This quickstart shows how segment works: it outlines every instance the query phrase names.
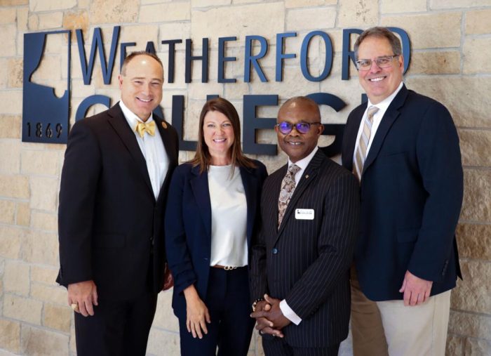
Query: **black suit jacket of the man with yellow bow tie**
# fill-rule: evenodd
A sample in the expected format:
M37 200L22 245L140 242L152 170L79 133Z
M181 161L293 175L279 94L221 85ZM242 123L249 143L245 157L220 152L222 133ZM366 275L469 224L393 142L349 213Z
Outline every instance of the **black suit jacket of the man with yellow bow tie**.
M99 298L112 300L135 298L149 284L161 290L163 207L178 140L170 124L154 119L169 158L158 199L119 103L74 124L60 186L58 283L93 279Z

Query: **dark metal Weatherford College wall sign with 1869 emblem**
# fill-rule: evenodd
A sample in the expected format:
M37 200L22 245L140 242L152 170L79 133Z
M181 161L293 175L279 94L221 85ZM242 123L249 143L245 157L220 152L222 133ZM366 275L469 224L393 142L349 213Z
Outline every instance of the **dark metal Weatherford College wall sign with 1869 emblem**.
M410 62L410 40L408 34L401 28L389 27L391 31L401 37L404 57L404 72L408 70ZM84 85L90 85L93 77L93 69L97 53L100 60L100 68L102 71L102 79L104 84L111 84L112 72L116 63L116 49L119 47L120 58L119 67L121 67L128 48L136 46L136 42L121 42L119 34L121 26L115 26L112 31L112 41L108 48L105 48L102 40L102 32L100 27L96 27L93 33L93 40L90 46L90 53L87 55L84 47L83 33L81 29L76 29L76 41L79 49L79 60L81 64L81 77ZM344 29L343 44L342 44L342 80L349 79L350 61L354 62L354 52L351 48L351 34L361 34L362 29ZM53 88L34 84L31 81L32 74L43 58L43 52L46 44L46 37L53 35L68 34L68 68L67 68L67 90L62 98L55 96ZM304 35L300 53L286 53L288 48L287 41L291 37L297 37L297 32L285 32L276 34L276 67L274 81L283 81L283 70L285 60L296 58L300 55L300 68L302 76L307 81L323 81L328 79L331 67L332 58L334 56L332 41L329 34L323 31L312 31ZM318 37L325 46L324 67L317 75L311 73L309 69L309 46L312 39ZM67 133L69 131L69 114L70 114L70 48L71 48L71 31L55 31L55 32L38 32L34 34L25 34L24 36L24 92L22 103L22 141L24 142L39 142L39 143L67 143ZM236 83L237 78L226 78L224 65L225 62L234 62L236 57L227 57L226 49L229 42L237 41L236 37L220 37L218 42L218 57L216 63L210 63L210 39L201 39L201 53L193 51L193 41L186 39L183 43L182 39L164 39L161 44L168 46L168 58L164 58L163 62L167 63L166 77L169 83L173 83L175 79L175 53L176 48L184 46L185 49L185 65L184 65L184 81L190 83L192 81L193 62L201 62L201 82L208 83L208 71L210 65L217 66L217 82L218 83ZM251 77L256 76L262 82L269 82L270 79L264 74L261 66L261 60L269 51L271 44L267 39L261 36L250 35L244 39L244 67L243 81L248 83ZM155 44L148 41L146 51L156 53ZM254 51L253 51L253 48ZM108 53L108 58L106 58ZM344 101L332 93L298 93L298 95L306 95L318 103L318 105L328 105L336 112L347 106ZM208 95L207 99L217 95ZM365 101L366 96L362 95L361 101ZM196 142L184 140L184 95L173 95L172 107L172 124L177 129L180 138L180 150L194 151L196 150ZM76 108L75 120L81 120L86 117L88 109L95 105L102 104L106 107L112 105L112 100L107 95L90 95L83 99ZM243 152L247 154L277 154L277 145L257 143L256 133L260 129L273 129L276 123L276 118L260 118L257 117L257 108L261 106L277 106L278 95L271 93L267 95L243 95ZM156 114L163 117L161 107L157 107ZM324 124L323 135L335 136L335 140L328 147L321 147L322 150L332 157L341 152L342 135L344 125L342 124Z

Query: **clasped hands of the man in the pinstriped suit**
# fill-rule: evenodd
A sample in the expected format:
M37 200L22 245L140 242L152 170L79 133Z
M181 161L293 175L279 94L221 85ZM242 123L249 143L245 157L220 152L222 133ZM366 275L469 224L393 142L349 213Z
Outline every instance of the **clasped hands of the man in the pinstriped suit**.
M264 301L256 304L255 311L250 315L256 319L256 329L260 334L270 334L283 338L281 329L290 324L290 320L283 315L280 300L264 294Z

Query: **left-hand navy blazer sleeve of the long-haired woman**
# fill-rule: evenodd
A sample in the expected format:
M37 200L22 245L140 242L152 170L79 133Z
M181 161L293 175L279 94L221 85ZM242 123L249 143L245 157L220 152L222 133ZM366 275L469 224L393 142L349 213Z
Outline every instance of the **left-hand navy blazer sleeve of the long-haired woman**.
M183 217L183 191L185 175L182 166L175 169L170 180L165 216L167 263L174 277L175 293L181 293L197 280L191 255L186 244Z

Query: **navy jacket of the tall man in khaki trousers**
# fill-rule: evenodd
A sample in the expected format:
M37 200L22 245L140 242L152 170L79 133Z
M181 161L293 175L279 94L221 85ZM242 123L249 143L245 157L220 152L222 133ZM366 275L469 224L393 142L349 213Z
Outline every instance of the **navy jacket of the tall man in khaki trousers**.
M365 109L366 103L353 110L344 130L342 163L350 171ZM361 177L355 263L368 298L402 299L406 270L433 281L431 295L455 286L462 176L450 113L403 86L382 118Z

